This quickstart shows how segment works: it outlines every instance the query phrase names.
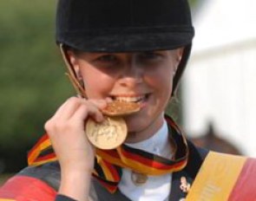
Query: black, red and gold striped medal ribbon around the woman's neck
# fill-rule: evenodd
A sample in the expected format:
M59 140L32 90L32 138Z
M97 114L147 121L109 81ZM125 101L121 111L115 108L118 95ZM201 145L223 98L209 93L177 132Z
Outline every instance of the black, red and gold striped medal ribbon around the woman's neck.
M121 168L128 168L135 172L157 176L180 171L187 165L187 141L174 120L167 115L165 118L167 120L169 138L174 141L177 147L174 159L166 159L124 144L112 150L96 149L93 176L108 191L116 191L121 179ZM56 154L46 133L30 150L28 162L29 165L43 165L55 160Z

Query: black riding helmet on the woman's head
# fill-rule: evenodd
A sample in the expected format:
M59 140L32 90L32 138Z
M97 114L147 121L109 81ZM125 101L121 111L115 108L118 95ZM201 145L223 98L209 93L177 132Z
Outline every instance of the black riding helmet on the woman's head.
M194 27L187 0L59 0L56 42L89 52L185 47L173 94L190 55Z

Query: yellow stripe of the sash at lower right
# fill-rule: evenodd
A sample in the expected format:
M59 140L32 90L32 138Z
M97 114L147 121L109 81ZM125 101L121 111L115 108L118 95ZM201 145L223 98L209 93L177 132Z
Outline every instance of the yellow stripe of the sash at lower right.
M246 157L209 152L186 201L226 201L246 162Z

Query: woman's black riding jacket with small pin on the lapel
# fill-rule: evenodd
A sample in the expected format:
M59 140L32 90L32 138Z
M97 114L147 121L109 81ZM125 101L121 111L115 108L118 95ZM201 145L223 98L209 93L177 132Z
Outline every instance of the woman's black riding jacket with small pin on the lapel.
M189 148L189 156L186 167L180 172L174 172L172 177L172 189L169 200L179 201L186 198L187 193L181 191L181 177L187 178L187 182L192 185L200 165L207 156L208 151L195 147L190 141L187 141ZM47 184L49 188L57 191L61 181L60 165L57 162L51 162L41 166L30 166L16 174L17 176L25 176L28 178L36 178ZM0 194L1 198L1 194ZM128 201L129 199L116 191L114 194L109 193L95 178L92 178L90 198L94 201ZM56 196L58 201L73 200L61 195Z

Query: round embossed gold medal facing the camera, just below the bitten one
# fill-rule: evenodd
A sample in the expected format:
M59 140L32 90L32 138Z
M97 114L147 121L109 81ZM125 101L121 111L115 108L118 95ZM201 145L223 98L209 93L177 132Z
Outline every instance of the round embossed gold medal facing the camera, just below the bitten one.
M85 127L89 141L100 149L115 149L127 137L127 126L120 117L105 117L102 123L89 119Z

